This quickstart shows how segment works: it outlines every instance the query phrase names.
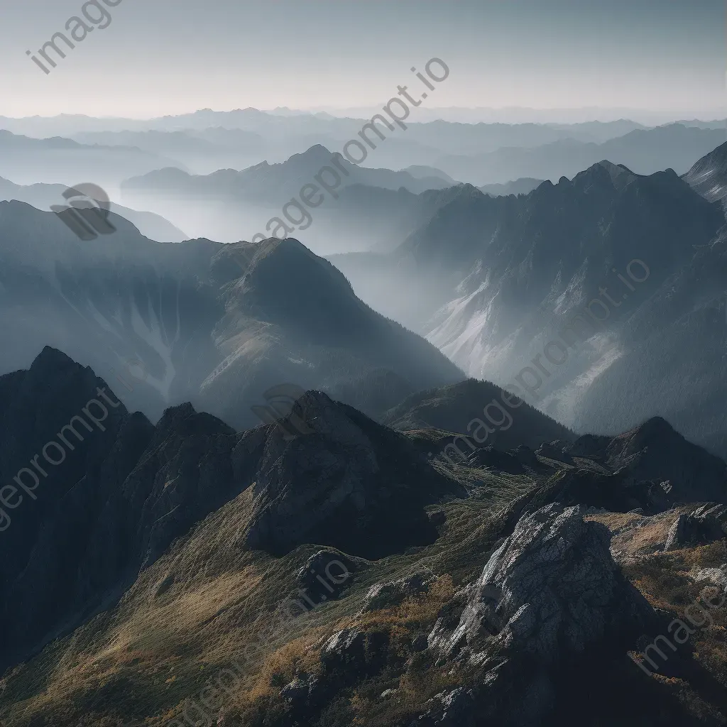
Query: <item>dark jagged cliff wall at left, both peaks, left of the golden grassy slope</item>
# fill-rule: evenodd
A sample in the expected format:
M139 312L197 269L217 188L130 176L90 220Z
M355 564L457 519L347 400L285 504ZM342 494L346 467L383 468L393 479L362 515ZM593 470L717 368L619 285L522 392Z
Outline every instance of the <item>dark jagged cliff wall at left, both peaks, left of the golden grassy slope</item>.
M29 371L0 377L0 399L0 481L14 481L48 442L65 451L57 465L45 463L36 489L31 470L22 473L27 496L9 499L15 508L0 537L13 557L0 564L0 616L16 628L2 670L113 603L172 539L250 481L235 478L240 436L220 420L186 404L153 427L90 369L50 348ZM61 460L60 449L46 451Z

